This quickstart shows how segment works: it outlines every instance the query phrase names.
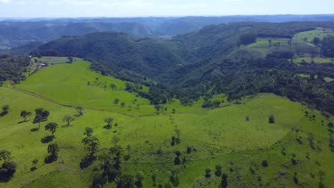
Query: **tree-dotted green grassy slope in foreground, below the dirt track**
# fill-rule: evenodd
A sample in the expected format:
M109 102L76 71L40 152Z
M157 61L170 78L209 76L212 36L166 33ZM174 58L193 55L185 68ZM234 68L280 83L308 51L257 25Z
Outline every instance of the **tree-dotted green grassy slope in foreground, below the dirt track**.
M64 115L76 114L72 108L65 108L54 103L49 103L24 93L9 88L0 88L0 105L9 104L10 113L0 117L0 148L10 150L14 161L18 164L18 170L14 179L0 187L88 187L90 180L87 179L92 167L81 170L79 162L83 156L81 139L84 137L84 127L93 127L93 135L101 141L102 147L111 147L110 142L113 135L121 138L120 145L126 147L131 145L131 160L123 164L125 173L133 174L136 171L143 171L146 176L144 187L151 187L151 174L157 174L158 182L168 182L168 173L171 169L177 168L181 185L179 187L193 187L193 182L217 184L218 179L213 177L206 179L203 175L206 167L214 168L216 164L223 165L223 172L229 176L229 185L238 187L233 183L235 172L228 172L233 161L235 166L241 168L242 182L255 182L258 186L257 176L261 176L265 187L280 187L285 183L288 187L295 187L293 183L293 172L298 172L300 182L308 182L310 187L318 184L318 172L325 172L325 185L333 186L334 176L333 152L328 149L328 131L326 126L321 125L324 120L318 114L315 120L308 120L304 116L303 107L275 95L263 94L262 98L253 100L245 105L232 105L226 108L209 110L205 113L190 113L182 115L158 115L154 117L126 117L113 113L103 113L86 110L86 115L77 118L72 126L66 127L61 122ZM20 110L33 111L34 108L43 107L50 110L49 121L58 122L60 127L56 131L55 141L59 143L61 152L59 160L52 164L44 164L46 157L46 144L41 143L41 137L50 135L43 128L39 132L30 132L33 125L31 120L18 123ZM276 122L268 124L268 115L274 114ZM104 130L103 119L112 116L118 122L117 132ZM246 122L245 117L251 120ZM172 119L172 120L171 120ZM173 123L172 123L173 122ZM325 120L327 124L327 120ZM44 127L46 122L42 122ZM174 126L181 129L181 144L171 146L171 136L175 135ZM301 130L298 136L302 137L303 145L295 141L295 132L291 127ZM313 132L315 140L320 142L321 152L311 150L306 137L308 132ZM279 143L275 144L275 142ZM192 145L197 152L188 155L186 147ZM287 148L286 155L280 154L283 145ZM157 155L158 147L162 148L163 155ZM262 151L258 150L263 148ZM268 150L267 150L268 149ZM187 161L183 165L175 167L173 164L173 151L181 150ZM310 153L310 159L305 158L306 152ZM127 153L127 152L126 152ZM290 162L291 154L297 155L298 165L293 166ZM38 169L30 172L31 161L38 159ZM260 166L262 160L268 160L269 167ZM319 167L315 164L318 160ZM134 164L135 161L138 164ZM161 164L162 162L162 164ZM282 164L286 164L283 167ZM256 175L249 172L253 166ZM279 177L278 172L287 172L285 177ZM315 174L310 178L309 172ZM278 177L277 179L275 177ZM195 187L199 183L195 183ZM113 187L107 184L106 187ZM218 186L212 186L218 187Z

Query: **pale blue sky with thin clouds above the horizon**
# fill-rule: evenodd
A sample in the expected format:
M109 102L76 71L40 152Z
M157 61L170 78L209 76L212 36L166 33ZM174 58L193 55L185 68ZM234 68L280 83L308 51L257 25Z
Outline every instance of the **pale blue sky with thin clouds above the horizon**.
M334 14L333 0L0 0L0 17Z

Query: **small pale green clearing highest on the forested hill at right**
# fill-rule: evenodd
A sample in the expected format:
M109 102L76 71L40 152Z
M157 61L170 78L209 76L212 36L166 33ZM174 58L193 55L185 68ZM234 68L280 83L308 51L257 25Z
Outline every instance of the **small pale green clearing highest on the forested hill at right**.
M306 41L310 43L313 41L315 37L323 39L325 36L328 36L331 34L334 34L333 29L317 28L316 30L297 33L294 38L300 39L300 40L305 40L306 38Z

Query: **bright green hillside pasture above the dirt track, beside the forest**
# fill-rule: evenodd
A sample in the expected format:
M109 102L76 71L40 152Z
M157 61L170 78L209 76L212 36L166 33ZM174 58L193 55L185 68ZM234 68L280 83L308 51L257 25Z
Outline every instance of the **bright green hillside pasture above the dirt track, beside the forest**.
M86 61L48 66L15 87L60 103L80 105L85 108L116 110L134 115L155 113L153 105L149 105L147 99L136 97L136 93L125 91L126 82L95 73L89 69L89 66L90 63ZM110 86L111 83L116 85L114 90ZM142 90L148 92L148 88L145 85L142 86ZM113 103L116 98L120 100L118 105ZM214 98L216 99L226 100L226 96L218 95ZM121 103L126 105L122 108ZM192 106L185 107L179 100L174 99L173 103L165 105L167 107L165 113L172 113L173 109L176 109L176 112L201 110L202 103L203 100L198 100Z

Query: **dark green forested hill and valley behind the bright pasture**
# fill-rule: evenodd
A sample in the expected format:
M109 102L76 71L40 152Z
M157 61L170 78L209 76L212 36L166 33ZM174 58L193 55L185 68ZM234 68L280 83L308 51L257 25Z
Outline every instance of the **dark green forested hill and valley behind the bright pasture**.
M257 38L289 41L296 33L318 27L330 29L334 28L334 23L228 23L206 26L166 40L99 32L51 41L37 48L34 56L86 58L93 62L93 70L128 80L133 75L143 75L141 78L157 80L173 88L183 104L192 103L203 95L210 98L213 93L227 93L229 100L239 100L245 95L269 92L334 113L331 109L333 82L323 80L334 78L332 63L295 64L291 63L293 56L297 56L294 51L273 51L263 58L244 48ZM331 41L328 37L318 46L306 42L304 45L321 47L321 51L328 52L332 49L328 45ZM313 50L307 53L315 54Z

